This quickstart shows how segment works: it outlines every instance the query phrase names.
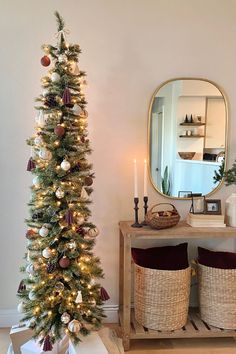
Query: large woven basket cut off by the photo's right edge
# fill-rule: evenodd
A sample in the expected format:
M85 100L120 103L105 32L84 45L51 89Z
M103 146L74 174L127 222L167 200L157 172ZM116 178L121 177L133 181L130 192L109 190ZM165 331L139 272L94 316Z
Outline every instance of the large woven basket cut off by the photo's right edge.
M200 315L206 323L236 329L236 269L219 269L198 263Z

